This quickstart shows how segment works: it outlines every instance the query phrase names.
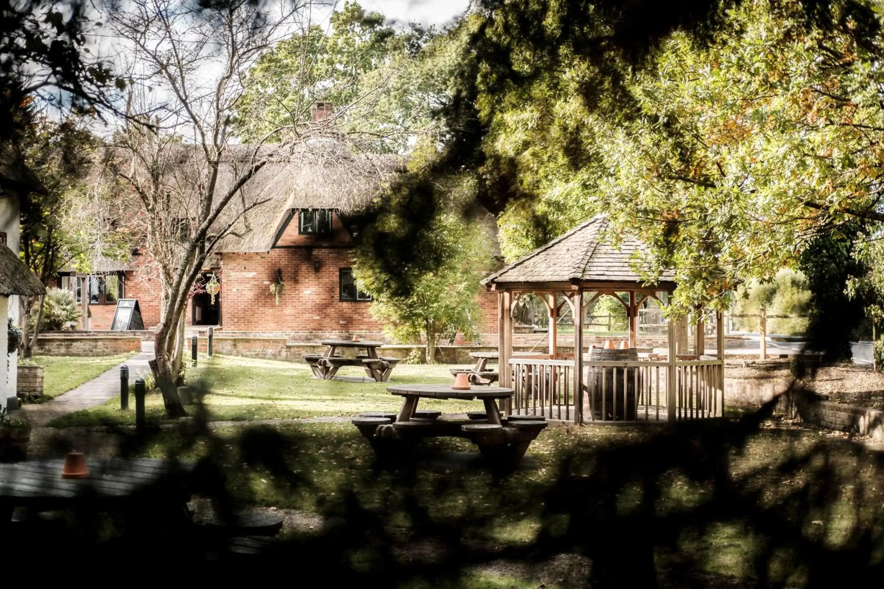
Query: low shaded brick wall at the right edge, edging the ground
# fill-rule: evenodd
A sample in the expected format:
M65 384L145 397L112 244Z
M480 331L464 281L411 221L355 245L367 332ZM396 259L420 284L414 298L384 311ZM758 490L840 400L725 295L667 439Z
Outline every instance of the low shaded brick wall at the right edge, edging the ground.
M815 426L884 440L884 411L834 403L807 391L781 396L777 409Z

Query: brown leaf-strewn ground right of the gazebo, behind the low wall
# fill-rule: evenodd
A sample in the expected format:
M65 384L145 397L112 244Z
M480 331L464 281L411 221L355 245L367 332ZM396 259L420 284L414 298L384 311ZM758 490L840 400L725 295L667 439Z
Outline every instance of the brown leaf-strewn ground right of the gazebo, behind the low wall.
M725 375L728 378L785 383L792 379L788 360L728 360ZM852 363L825 366L801 383L820 395L828 395L829 400L835 403L884 409L884 374L875 373L872 366Z

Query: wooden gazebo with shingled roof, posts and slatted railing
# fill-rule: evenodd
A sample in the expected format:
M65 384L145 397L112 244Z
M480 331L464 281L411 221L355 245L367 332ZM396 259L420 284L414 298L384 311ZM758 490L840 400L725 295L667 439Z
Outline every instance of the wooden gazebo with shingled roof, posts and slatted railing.
M724 409L721 313L717 313L717 358L703 355L702 326L696 330L695 353L685 353L686 322L674 321L668 322L666 356L639 354L638 310L649 297L667 301L676 286L674 274L645 283L636 265L649 259L647 246L636 238L612 245L606 236L609 223L606 215L595 216L482 281L499 293L499 378L502 386L515 389L507 412L575 423L720 417ZM529 293L544 300L549 314L545 354L513 351L514 306ZM619 293L628 293L628 302ZM584 345L586 310L605 295L613 295L626 309L628 350L587 350ZM573 351L560 350L558 342L558 320L565 305L574 321Z

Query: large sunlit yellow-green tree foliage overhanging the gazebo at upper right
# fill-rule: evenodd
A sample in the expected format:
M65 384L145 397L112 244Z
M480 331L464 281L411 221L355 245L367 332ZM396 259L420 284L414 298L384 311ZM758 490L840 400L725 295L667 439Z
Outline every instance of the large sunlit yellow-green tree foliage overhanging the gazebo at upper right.
M651 245L649 278L676 268L671 312L725 309L819 234L884 218L880 5L700 4L697 29L699 4L480 12L480 193L498 200L508 259L606 211L613 238ZM629 28L640 7L659 26Z

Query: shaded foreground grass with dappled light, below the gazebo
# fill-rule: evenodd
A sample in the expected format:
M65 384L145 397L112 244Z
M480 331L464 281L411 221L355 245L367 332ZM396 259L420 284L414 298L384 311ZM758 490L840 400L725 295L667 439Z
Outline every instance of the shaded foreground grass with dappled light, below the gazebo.
M684 443L691 439L697 449ZM808 430L757 430L733 446L716 440L666 428L552 427L531 446L537 468L503 479L434 462L442 450L475 449L456 439L422 442L414 471L377 470L369 444L348 423L217 426L195 439L166 429L141 454L211 457L237 502L343 518L356 528L353 537L369 525L357 522L380 517L394 532L369 553L397 542L408 551L422 534L457 530L447 542L532 560L550 543L562 553L598 555L620 542L626 564L638 545L624 536L652 538L660 574L690 570L716 579L697 585L694 578L693 586L728 587L748 585L727 579L759 575L775 586L803 586L814 558L823 563L851 549L868 548L872 566L884 562L884 464L873 453ZM726 457L723 477L716 452ZM636 456L647 461L618 462ZM293 538L299 534L320 531ZM503 572L502 585L480 576L451 586L532 586Z

